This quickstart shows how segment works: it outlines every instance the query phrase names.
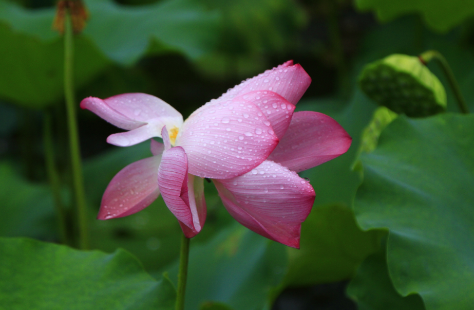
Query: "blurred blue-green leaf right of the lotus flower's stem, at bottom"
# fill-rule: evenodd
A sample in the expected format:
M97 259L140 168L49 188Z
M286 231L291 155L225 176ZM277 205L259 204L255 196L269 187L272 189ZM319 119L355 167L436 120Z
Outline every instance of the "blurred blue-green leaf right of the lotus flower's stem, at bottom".
M204 226L205 227L205 226ZM232 225L203 245L191 241L185 308L208 301L235 310L260 310L287 268L285 246L240 224ZM177 266L170 271L176 279Z

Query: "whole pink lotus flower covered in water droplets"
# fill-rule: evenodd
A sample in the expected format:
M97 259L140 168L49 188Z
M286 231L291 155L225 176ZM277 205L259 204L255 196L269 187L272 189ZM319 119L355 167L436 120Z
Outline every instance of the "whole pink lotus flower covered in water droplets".
M126 147L151 139L153 157L131 163L110 181L98 218L122 217L161 193L187 236L206 217L203 178L211 178L224 207L242 225L299 248L301 223L315 193L297 172L345 153L351 137L332 118L296 112L311 78L286 62L243 81L183 122L163 100L146 94L86 98L82 108L128 130L110 135Z

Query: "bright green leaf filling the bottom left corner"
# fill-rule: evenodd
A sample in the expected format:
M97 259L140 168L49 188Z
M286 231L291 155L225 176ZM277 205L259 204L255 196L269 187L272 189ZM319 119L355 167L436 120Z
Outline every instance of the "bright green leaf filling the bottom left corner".
M174 309L176 291L128 252L78 251L30 239L0 238L0 308Z

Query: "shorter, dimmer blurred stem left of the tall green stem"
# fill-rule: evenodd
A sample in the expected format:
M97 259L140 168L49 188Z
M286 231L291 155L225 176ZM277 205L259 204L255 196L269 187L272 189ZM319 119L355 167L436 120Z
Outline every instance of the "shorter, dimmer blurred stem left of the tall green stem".
M45 165L48 174L49 184L54 199L54 207L56 208L56 216L58 217L58 228L60 232L61 243L68 244L66 216L61 198L61 182L59 179L58 169L54 160L54 147L51 129L51 114L46 112L43 121L43 146L45 152Z

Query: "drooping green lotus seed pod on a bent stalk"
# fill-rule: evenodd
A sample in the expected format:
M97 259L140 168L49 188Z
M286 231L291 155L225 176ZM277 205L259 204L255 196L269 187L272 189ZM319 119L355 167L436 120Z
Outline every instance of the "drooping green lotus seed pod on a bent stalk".
M443 84L418 57L392 54L368 64L359 85L371 99L395 113L424 117L446 111Z

